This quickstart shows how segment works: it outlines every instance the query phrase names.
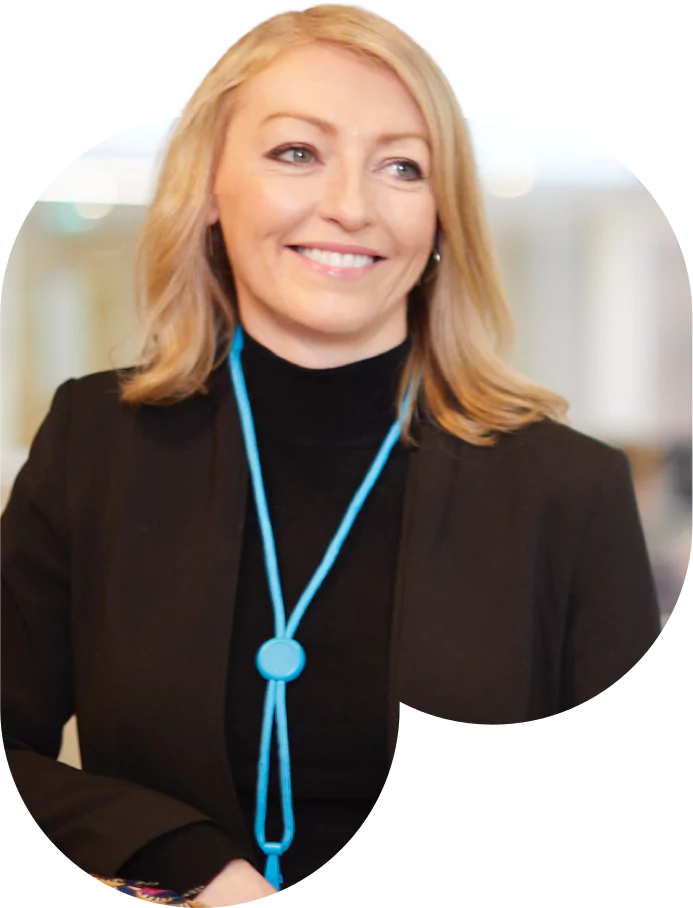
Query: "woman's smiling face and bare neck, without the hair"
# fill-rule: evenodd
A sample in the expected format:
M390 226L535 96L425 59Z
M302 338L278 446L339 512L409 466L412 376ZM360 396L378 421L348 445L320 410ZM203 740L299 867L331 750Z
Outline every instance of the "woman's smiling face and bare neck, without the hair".
M407 293L436 230L430 136L407 89L341 47L315 44L285 51L236 103L208 222L221 224L244 328L307 368L402 343ZM320 244L382 259L337 267L292 248Z

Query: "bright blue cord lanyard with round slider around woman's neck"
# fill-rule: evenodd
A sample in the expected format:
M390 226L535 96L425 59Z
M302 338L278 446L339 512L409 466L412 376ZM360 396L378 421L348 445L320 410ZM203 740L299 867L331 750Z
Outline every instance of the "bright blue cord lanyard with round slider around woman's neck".
M375 485L375 481L380 476L380 473L387 462L387 458L390 455L390 451L397 443L401 435L401 424L399 418L396 419L388 432L385 441L381 445L375 460L366 474L366 478L361 483L359 490L347 508L342 523L332 539L332 542L328 546L320 566L313 575L313 579L304 590L287 625L284 612L284 601L282 598L281 586L279 584L279 570L277 567L277 554L274 547L274 535L272 533L272 524L270 523L269 512L267 510L267 499L265 497L264 483L262 481L262 472L258 458L255 426L250 411L250 401L248 400L243 366L241 365L242 350L243 329L239 321L234 335L231 353L229 354L231 378L233 380L236 401L240 412L241 426L243 428L245 450L253 482L253 491L255 493L255 507L257 509L262 531L262 545L265 552L265 570L274 608L275 628L275 636L266 640L258 649L255 656L255 665L262 677L267 681L265 707L262 719L262 733L260 738L260 756L258 759L255 838L264 854L267 855L264 876L275 889L279 890L284 879L279 869L279 856L284 854L291 845L294 837L289 733L286 724L286 683L287 681L293 681L294 678L297 678L306 664L306 654L303 647L297 640L294 640L293 637L313 596L334 564L335 559L339 554L339 550L349 534L349 530L351 529L357 514L363 506L363 502ZM403 410L405 411L409 406L412 386L413 378L409 383L409 389L407 390L403 403ZM281 842L268 842L265 839L265 819L267 815L270 742L272 739L272 727L275 713L277 720L284 836Z

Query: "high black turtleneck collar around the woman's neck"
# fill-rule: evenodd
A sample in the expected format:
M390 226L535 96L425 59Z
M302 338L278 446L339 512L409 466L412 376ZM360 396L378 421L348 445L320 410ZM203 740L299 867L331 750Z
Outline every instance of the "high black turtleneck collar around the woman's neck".
M306 444L384 440L397 418L397 385L411 339L377 356L308 369L273 353L247 331L241 364L258 435Z

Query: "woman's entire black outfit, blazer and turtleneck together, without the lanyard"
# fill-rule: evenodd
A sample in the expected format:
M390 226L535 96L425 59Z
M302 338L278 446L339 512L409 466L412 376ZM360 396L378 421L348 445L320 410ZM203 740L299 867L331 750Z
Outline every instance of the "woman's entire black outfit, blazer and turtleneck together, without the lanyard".
M407 341L305 370L245 333L287 618L394 421ZM389 383L389 387L388 387ZM395 446L318 589L287 685L296 834L286 883L365 829L403 712L467 727L561 719L656 649L623 451L544 420ZM273 611L228 362L208 397L130 408L69 379L0 516L0 732L18 798L84 873L186 891L254 838ZM79 726L82 770L57 761ZM282 833L272 747L267 839Z

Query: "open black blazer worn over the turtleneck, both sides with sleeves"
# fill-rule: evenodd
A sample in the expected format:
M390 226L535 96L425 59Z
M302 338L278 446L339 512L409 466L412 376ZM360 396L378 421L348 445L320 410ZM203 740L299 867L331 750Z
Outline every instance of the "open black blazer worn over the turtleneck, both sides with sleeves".
M559 719L662 639L621 450L550 421L495 448L417 431L391 767L403 712L467 727ZM249 483L228 363L209 397L138 411L119 403L114 371L64 382L17 475L0 518L0 730L20 803L85 873L115 875L199 820L250 842L223 726ZM82 771L56 759L73 714Z

